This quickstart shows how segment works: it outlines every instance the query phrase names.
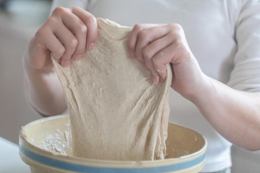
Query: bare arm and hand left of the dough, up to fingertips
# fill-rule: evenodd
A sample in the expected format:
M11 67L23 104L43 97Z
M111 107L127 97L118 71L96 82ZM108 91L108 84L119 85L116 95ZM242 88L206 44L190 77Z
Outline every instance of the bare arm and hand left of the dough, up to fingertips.
M97 40L95 17L79 8L56 8L30 40L23 56L24 90L29 104L43 115L62 113L67 104L50 54L63 67L81 59Z

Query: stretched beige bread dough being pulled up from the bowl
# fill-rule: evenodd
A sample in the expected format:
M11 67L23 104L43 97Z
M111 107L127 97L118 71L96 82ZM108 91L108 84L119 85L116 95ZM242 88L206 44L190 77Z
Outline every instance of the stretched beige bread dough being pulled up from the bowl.
M172 69L152 84L149 71L128 57L132 27L97 19L99 39L82 60L54 67L70 114L73 154L106 160L164 159Z

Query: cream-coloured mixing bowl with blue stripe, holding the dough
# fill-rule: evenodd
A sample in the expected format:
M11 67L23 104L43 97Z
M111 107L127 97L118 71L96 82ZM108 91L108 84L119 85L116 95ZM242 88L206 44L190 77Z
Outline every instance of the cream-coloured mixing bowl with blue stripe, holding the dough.
M72 156L69 115L33 121L20 131L19 154L31 172L199 172L207 141L199 133L169 123L166 159L111 161ZM91 148L90 148L91 150Z

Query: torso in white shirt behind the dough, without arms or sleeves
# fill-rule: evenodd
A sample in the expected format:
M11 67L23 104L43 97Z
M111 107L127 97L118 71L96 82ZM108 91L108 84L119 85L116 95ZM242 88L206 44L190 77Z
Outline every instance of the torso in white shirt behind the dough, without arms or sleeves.
M90 0L86 10L95 17L108 18L125 26L178 23L202 71L225 84L229 80L237 51L234 34L241 10L238 0ZM208 140L204 171L231 166L231 143L210 126L197 107L173 89L170 89L169 104L170 122L196 130Z

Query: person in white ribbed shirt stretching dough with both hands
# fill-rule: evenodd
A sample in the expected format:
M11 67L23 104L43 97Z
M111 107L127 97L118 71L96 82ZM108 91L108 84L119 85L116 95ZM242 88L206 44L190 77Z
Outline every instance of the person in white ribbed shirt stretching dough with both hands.
M39 113L66 101L50 60L63 67L95 49L96 18L133 26L129 56L163 82L173 67L170 122L208 141L202 172L230 172L230 147L260 149L260 2L55 0L23 56L25 93Z

